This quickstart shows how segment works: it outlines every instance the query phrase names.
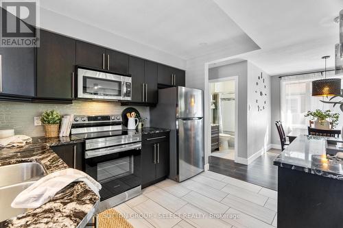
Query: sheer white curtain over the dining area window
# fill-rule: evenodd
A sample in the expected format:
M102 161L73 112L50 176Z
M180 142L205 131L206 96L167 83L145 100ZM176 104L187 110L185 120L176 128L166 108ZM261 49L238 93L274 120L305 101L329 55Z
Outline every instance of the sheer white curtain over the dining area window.
M335 75L334 71L327 72L327 78L341 78L343 75ZM341 129L343 125L343 112L340 106L333 104L325 104L320 100L329 101L327 97L312 97L311 81L324 79L322 73L311 73L306 75L296 75L282 77L281 79L281 121L285 128L286 134L294 128L307 129L310 118L305 118L307 111L331 110L340 114L338 126L335 129ZM343 80L342 80L343 81ZM342 86L343 88L343 86ZM334 101L342 99L335 98Z

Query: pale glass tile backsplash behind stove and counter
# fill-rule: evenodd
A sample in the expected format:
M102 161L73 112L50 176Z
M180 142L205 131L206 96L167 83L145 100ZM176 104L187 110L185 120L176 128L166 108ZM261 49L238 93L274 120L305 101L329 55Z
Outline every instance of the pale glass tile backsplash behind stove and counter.
M0 129L14 129L15 134L44 136L43 126L34 126L34 116L40 116L45 110L58 110L60 114L121 114L126 106L118 102L73 101L71 105L22 103L0 101ZM150 126L149 107L135 107L141 116L147 117L145 126Z

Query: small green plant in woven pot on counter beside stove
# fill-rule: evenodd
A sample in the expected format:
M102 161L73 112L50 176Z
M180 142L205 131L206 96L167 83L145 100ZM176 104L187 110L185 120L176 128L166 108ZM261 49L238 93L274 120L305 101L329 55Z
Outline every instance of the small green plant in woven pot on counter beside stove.
M45 137L58 136L60 123L62 121L62 116L59 112L56 110L47 110L43 112L42 116L40 117L40 121L42 121L45 129Z

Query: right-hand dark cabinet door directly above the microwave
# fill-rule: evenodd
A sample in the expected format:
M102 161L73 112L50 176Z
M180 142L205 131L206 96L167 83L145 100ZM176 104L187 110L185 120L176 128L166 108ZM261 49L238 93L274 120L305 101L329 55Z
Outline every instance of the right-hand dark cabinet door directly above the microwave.
M129 55L106 49L106 70L116 73L128 73Z

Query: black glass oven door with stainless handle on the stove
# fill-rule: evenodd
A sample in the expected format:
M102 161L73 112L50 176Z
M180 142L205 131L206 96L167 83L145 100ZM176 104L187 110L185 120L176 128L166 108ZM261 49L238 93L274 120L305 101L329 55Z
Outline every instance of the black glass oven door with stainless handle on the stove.
M141 186L141 143L135 144L86 151L85 172L102 184L101 201Z

